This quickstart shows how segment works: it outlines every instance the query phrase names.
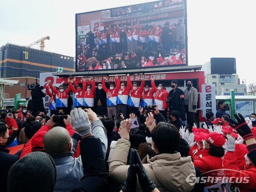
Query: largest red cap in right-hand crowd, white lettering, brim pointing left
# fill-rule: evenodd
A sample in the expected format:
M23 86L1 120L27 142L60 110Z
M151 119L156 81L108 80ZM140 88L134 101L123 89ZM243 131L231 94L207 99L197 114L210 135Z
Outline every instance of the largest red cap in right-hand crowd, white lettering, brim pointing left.
M206 133L199 133L199 135L204 139L207 140L209 143L211 143L212 145L216 146L216 147L222 147L222 145L225 144L225 138L223 137L222 134L216 133L216 132L212 132L209 134Z

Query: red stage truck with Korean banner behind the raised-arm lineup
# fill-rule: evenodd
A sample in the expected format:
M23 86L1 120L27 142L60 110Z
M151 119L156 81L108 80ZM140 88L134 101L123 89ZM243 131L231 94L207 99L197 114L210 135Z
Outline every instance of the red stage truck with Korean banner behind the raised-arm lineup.
M186 66L186 70L188 69L189 66ZM192 66L190 67L191 71L180 71L180 72L167 72L167 73L144 73L144 74L134 74L131 71L128 71L130 77L131 77L131 81L132 82L138 82L139 85L141 83L141 79L145 79L145 83L151 83L151 79L154 79L156 86L159 83L163 83L166 87L166 90L169 92L170 90L172 90L171 88L171 81L173 79L178 81L178 87L182 90L186 89L186 81L188 80L192 80L194 82L193 86L195 88L198 89L198 112L197 112L197 123L198 126L201 125L202 122L204 122L205 118L203 117L203 113L205 116L205 113L208 111L212 111L212 108L214 108L215 106L215 94L213 94L214 96L212 98L209 97L209 94L205 97L205 94L202 94L202 87L205 86L204 84L204 71L199 71L198 69L200 69L200 66ZM177 70L177 69L176 69ZM198 71L195 71L198 70ZM85 77L87 79L89 79L91 76L93 77L94 81L96 82L96 86L102 82L103 77L106 77L108 79L108 81L110 82L114 82L114 77L115 75L105 75L104 73L100 73L103 71L98 71L97 74L90 74L89 76L87 74L77 74L77 73L46 73L46 76L41 76L41 82L46 81L47 79L50 79L52 82L54 82L53 84L55 85L59 85L59 84L64 84L64 87L67 88L67 78L73 78L76 77L76 81L78 82L78 84L82 84L82 77ZM109 71L110 72L110 71ZM43 73L42 73L43 74ZM123 74L118 74L120 81L127 81L126 79L126 74L127 73L123 73ZM208 85L206 85L208 86ZM203 92L207 90L207 88L204 88ZM215 89L214 87L212 87L212 90L215 93ZM71 96L74 97L73 93L70 92ZM202 96L203 96L203 100L208 100L208 107L209 109L205 109L207 107L206 106L202 106L205 105L204 102L202 102ZM212 106L209 106L209 102L211 102L211 104L213 104ZM203 103L203 104L202 104ZM46 103L46 108L47 108L47 103ZM214 112L214 111L212 111ZM169 110L167 111L167 113L169 113ZM214 112L215 113L215 112Z

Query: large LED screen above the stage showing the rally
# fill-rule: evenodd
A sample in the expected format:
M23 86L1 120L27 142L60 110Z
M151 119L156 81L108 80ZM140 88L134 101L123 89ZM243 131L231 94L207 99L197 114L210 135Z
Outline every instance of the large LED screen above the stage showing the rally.
M76 71L187 65L185 8L166 0L76 14Z

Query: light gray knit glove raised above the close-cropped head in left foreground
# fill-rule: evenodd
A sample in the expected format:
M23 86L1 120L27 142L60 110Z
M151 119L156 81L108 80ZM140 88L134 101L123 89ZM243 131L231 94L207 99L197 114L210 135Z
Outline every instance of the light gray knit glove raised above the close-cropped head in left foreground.
M80 136L87 135L91 132L90 120L82 108L74 108L70 112L70 124Z

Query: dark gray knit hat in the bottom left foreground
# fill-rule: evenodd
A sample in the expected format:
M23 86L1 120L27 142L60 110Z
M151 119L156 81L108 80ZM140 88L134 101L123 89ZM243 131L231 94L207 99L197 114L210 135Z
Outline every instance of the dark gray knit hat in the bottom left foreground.
M10 169L8 192L52 192L56 167L49 154L35 151L18 160Z

